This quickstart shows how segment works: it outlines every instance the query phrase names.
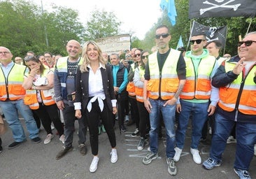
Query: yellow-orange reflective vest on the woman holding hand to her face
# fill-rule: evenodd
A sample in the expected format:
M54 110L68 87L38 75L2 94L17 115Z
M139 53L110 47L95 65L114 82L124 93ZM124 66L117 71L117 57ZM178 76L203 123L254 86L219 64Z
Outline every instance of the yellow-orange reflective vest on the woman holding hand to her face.
M49 71L50 69L45 69L45 71L43 71L42 76L46 77ZM52 95L46 94L46 91L48 90L39 90L39 91L41 94L43 104L45 106L50 106L55 103L55 100L52 99ZM32 110L36 110L39 108L36 90L26 90L26 94L24 96L24 104L29 105L29 108L31 108Z

